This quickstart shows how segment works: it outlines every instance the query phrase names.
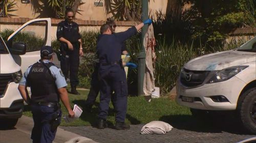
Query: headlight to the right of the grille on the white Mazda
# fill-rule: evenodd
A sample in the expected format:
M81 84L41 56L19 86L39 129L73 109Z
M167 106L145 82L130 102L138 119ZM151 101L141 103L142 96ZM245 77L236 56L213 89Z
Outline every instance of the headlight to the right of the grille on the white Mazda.
M249 66L235 66L235 67L229 67L229 68L217 71L216 74L212 76L207 83L215 83L215 82L228 80L247 67Z

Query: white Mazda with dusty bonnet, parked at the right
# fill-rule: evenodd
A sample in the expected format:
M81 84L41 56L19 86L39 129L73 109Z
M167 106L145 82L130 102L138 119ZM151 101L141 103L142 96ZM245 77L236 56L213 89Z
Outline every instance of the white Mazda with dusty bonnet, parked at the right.
M176 101L196 116L236 110L244 127L256 133L256 37L187 62L177 80Z

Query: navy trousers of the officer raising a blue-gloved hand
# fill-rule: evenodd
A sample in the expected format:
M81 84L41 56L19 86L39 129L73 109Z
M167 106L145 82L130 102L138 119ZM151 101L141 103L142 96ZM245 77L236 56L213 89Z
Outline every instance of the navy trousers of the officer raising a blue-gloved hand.
M127 82L125 71L120 66L114 66L110 71L100 70L100 103L98 118L106 120L109 111L111 93L114 90L114 108L116 122L124 122L127 110Z

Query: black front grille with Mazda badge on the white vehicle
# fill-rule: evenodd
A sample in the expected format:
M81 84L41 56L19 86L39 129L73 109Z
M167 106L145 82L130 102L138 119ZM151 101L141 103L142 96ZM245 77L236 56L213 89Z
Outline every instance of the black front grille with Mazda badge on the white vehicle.
M183 69L180 74L180 81L186 87L192 88L201 85L210 71L191 71Z

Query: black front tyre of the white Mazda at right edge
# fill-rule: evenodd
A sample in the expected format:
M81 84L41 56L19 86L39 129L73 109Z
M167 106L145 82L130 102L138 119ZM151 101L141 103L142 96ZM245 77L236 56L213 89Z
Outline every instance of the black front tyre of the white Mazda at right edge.
M242 94L238 100L237 112L245 129L256 133L256 88Z

